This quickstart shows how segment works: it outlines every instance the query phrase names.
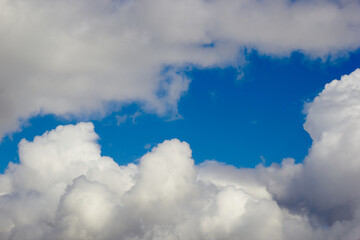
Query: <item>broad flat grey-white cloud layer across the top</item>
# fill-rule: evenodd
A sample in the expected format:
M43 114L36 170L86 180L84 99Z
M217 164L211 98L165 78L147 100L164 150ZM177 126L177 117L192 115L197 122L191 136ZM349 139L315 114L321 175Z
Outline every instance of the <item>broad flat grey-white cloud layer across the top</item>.
M359 12L355 0L0 0L0 138L38 114L131 102L176 117L184 68L236 65L244 47L347 52Z

